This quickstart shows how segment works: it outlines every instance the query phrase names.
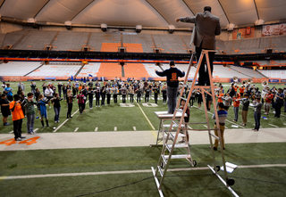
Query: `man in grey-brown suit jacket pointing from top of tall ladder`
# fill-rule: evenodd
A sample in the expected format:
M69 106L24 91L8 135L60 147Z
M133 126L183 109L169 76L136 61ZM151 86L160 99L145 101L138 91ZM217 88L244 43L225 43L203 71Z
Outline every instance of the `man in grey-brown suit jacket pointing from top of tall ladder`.
M210 6L204 7L204 12L198 12L194 17L181 17L175 21L195 23L190 44L196 46L197 61L203 49L215 50L215 35L221 34L220 18L214 16ZM209 52L211 74L213 75L214 52ZM198 86L210 86L207 67L205 69L206 57L204 57L198 70Z

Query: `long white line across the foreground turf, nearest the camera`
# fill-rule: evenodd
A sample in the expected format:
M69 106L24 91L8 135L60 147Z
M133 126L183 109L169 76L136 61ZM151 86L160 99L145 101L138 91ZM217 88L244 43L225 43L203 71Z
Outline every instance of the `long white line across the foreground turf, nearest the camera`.
M262 165L238 166L238 168L273 168L273 167L286 167L286 164L262 164ZM206 169L209 169L209 168L208 167L172 168L172 169L169 169L169 171L190 171L190 170L206 170ZM0 176L0 180L56 177L56 176L59 177L59 176L119 175L119 174L133 174L133 173L150 173L151 171L152 171L151 169L140 169L140 170L122 170L122 171L60 173L60 174L46 174L46 175Z

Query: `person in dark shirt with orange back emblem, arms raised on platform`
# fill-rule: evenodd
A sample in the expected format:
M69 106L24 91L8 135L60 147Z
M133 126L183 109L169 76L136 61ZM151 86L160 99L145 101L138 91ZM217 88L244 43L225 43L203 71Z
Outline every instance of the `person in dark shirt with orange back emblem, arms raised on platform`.
M156 74L160 77L167 77L167 96L168 96L168 113L173 114L176 109L177 104L177 94L179 86L179 77L185 76L185 71L178 70L175 67L175 62L170 62L170 69L164 70L162 72L155 70Z

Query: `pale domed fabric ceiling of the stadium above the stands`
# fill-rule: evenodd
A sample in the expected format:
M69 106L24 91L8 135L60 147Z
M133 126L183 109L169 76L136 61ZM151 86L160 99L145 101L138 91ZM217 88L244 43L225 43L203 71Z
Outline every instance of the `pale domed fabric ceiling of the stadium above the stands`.
M190 24L175 18L194 16L204 6L212 7L222 28L254 25L256 21L285 22L286 0L0 0L2 18L37 23L61 23L108 26L136 26L176 29ZM44 24L43 23L43 24Z

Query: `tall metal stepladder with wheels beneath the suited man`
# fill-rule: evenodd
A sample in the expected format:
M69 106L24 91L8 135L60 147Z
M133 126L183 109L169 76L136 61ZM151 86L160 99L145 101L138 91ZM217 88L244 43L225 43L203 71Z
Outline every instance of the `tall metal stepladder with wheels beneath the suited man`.
M231 185L234 185L234 180L228 178L227 172L226 172L224 153L223 153L223 144L222 144L222 135L221 135L221 131L220 131L219 119L218 119L218 115L217 115L216 106L214 104L215 103L214 83L213 83L211 70L210 70L210 62L209 62L208 52L216 52L216 51L215 50L202 50L202 53L201 53L201 55L199 57L199 60L197 62L197 70L196 70L195 76L193 78L193 83L192 83L192 85L190 87L188 97L187 97L187 99L182 97L182 94L183 94L183 91L184 91L184 88L182 88L179 100L178 100L178 102L176 104L176 110L173 113L172 122L171 122L171 125L170 125L170 128L169 128L169 131L167 132L167 135L164 138L163 149L162 149L159 161L157 163L156 170L153 167L151 167L152 171L153 171L153 176L155 178L155 182L156 182L156 186L157 186L158 192L160 193L160 196L164 196L164 194L162 192L162 185L164 184L164 177L166 176L167 169L168 169L170 161L172 159L184 159L185 158L185 159L189 160L189 162L191 163L192 167L197 165L197 162L195 160L192 160L192 158L191 158L191 155L190 155L190 152L189 152L189 145L188 145L188 148L187 148L187 151L188 151L187 154L181 154L181 155L173 154L173 151L174 151L175 148L185 148L183 145L177 144L177 139L178 139L178 136L180 135L180 131L181 130L184 131L184 134L186 134L186 132L188 130L197 130L197 131L207 130L208 131L209 141L210 141L210 144L211 144L211 152L212 152L212 155L213 155L214 168L212 168L209 165L207 165L207 167L210 168L213 171L214 175L216 175L223 182L223 185L225 185L231 191L231 193L234 196L238 196L237 193L235 193L231 189L231 187L230 187ZM186 74L185 80L184 80L184 86L188 82L189 70L193 66L193 61L194 61L195 55L196 55L195 53L192 53L192 55L191 55L191 58L190 58L190 61L189 61L189 68L188 68L188 71L187 71L187 74ZM196 79L198 78L198 70L199 70L201 62L202 62L202 60L204 58L204 55L206 56L206 66L207 66L207 70L208 70L210 86L195 86ZM203 66L205 66L205 65L203 65ZM202 123L198 123L197 122L197 123L188 123L188 124L186 123L186 124L184 124L186 127L182 127L183 122L184 122L184 114L187 111L187 106L188 106L188 103L189 103L190 95L191 95L191 92L194 89L196 89L200 94L202 94L204 108L205 108L206 122L202 122ZM210 92L208 92L209 89L211 90ZM208 115L207 115L207 109L206 109L205 94L209 94L212 97L212 99L213 99L216 128L211 128L210 127L210 123L209 123L209 119L208 119ZM181 110L179 108L181 100L185 100L186 101L186 104L183 107L183 110ZM182 114L180 121L178 119L177 120L175 119L177 111L180 111L181 114ZM207 124L207 129L192 129L192 128L188 127L189 124ZM176 131L175 135L172 134L172 127L173 127L173 125L177 126L177 131ZM217 130L219 137L217 137L216 135L211 133L212 130ZM224 179L221 176L219 176L218 173L217 173L220 170L220 166L216 166L215 157L214 157L214 144L213 144L213 141L212 141L212 137L216 138L220 142L220 148L221 148L221 154L222 154L222 160L223 160L223 169L224 169ZM169 140L172 140L172 144L168 144ZM169 154L165 155L165 152L167 152L167 151L169 152Z

